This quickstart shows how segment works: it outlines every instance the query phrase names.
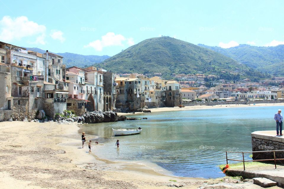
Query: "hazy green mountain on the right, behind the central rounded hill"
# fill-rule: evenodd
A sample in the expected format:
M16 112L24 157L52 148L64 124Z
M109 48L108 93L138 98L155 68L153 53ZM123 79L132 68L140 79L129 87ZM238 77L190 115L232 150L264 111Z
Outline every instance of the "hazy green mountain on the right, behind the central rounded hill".
M284 45L278 45L276 47L239 45L231 48L212 47L202 44L198 45L233 58L251 68L268 72L276 76L284 76L284 70L282 69L282 66L280 66L284 62Z

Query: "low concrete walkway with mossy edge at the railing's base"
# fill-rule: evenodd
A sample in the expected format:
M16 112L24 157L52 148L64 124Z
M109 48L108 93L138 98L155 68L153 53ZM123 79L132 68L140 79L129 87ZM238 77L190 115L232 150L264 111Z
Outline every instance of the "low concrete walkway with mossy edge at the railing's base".
M277 182L278 186L284 186L284 169L266 169L266 170L231 170L229 169L227 175L243 176L243 178L264 177Z

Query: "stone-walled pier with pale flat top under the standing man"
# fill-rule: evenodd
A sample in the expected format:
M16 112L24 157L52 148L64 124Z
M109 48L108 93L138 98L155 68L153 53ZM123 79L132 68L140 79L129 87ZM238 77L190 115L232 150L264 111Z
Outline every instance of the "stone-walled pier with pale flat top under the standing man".
M251 133L252 151L284 150L284 137L275 136L276 131ZM252 153L253 159L274 159L273 152ZM275 152L276 158L284 158L284 151Z

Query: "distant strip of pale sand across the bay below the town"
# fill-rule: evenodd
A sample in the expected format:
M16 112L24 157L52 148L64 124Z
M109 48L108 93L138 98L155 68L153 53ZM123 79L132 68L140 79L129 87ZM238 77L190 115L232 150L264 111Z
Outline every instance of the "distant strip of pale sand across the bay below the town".
M258 104L224 104L224 105L194 105L194 106L185 106L185 107L158 107L158 108L149 108L151 113L156 112L167 112L167 111L183 111L183 110L203 110L203 109L219 109L219 108L234 108L234 107L263 107L263 106L284 106L284 103L258 103ZM275 110L276 111L276 110ZM117 115L135 115L135 114L148 114L144 112L135 112L133 113L117 113Z

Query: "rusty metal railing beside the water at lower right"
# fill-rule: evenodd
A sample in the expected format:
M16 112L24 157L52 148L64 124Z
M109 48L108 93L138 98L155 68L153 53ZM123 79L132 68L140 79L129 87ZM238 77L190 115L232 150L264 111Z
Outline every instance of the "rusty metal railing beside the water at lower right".
M261 161L274 161L275 169L276 169L276 160L284 160L284 158L276 158L275 152L280 152L284 150L265 150L265 151L226 151L226 162L228 164L228 160L230 161L237 161L237 162L243 162L243 170L245 171L245 162L261 162ZM228 159L227 153L241 153L243 155L243 160L238 159ZM273 152L274 159L255 159L255 160L245 160L244 154L245 153L262 153L262 152Z

